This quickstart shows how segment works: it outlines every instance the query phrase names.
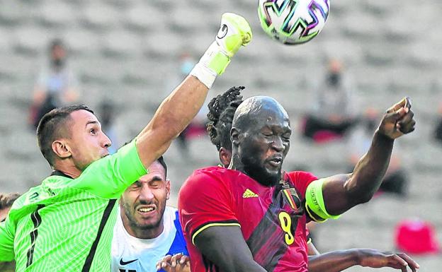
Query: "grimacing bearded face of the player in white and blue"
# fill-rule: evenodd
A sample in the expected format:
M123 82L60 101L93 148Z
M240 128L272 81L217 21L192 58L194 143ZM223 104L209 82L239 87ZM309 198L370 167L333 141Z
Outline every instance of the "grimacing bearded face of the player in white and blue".
M121 197L122 219L130 235L142 239L157 237L163 230L163 214L170 195L166 171L157 161L149 174L140 177Z

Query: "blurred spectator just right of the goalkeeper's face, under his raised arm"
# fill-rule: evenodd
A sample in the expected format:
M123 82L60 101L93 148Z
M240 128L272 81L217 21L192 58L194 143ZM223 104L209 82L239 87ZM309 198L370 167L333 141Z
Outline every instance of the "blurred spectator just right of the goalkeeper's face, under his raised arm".
M111 101L103 101L100 106L101 129L111 139L112 145L108 148L109 153L117 152L120 146L117 130L115 129L115 105Z

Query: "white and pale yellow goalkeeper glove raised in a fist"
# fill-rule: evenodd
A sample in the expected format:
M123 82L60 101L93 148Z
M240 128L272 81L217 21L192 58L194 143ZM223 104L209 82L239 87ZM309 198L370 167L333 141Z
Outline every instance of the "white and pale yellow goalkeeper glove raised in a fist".
M239 47L246 46L251 41L251 37L251 28L246 19L234 13L222 14L215 42L212 42L193 68L191 75L211 88L215 78L225 71Z

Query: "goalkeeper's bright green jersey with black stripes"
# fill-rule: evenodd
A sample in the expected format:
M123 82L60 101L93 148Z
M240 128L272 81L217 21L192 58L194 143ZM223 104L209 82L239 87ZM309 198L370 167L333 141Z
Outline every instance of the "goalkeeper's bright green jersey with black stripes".
M16 271L109 271L117 199L145 174L135 141L77 179L55 171L0 224L0 261L15 259Z

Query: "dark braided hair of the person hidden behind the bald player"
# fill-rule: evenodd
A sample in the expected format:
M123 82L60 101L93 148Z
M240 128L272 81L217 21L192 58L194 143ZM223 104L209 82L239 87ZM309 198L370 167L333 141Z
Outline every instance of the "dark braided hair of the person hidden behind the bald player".
M241 90L244 86L229 88L222 95L217 95L210 100L208 107L207 131L210 141L217 147L232 150L232 142L230 141L230 129L232 129L232 120L235 110L242 103Z

